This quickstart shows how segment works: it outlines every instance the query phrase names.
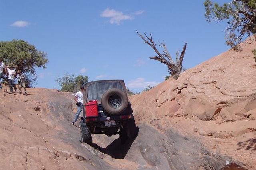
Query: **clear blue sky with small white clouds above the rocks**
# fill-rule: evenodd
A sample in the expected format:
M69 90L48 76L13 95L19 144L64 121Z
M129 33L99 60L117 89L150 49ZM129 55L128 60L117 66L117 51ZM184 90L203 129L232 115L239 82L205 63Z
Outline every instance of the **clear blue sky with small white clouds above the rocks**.
M36 69L36 87L60 88L57 76L124 79L133 91L164 81L167 67L136 34L152 32L171 55L188 42L183 61L192 68L229 47L225 22L208 23L204 0L0 0L0 41L23 39L48 53ZM220 4L227 0L215 0Z

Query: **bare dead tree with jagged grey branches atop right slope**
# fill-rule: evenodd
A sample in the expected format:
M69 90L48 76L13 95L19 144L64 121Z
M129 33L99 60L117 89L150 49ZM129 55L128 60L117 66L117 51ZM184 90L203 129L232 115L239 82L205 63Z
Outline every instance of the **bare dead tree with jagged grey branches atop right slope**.
M137 31L138 33L138 31ZM138 35L140 35L138 33ZM160 43L161 45L157 45L153 42L152 40L152 35L150 33L150 37L148 37L146 35L146 33L144 33L144 35L146 36L146 38L143 37L143 35L140 35L140 37L145 41L144 43L148 44L150 47L152 47L152 49L154 49L155 53L157 54L155 57L149 57L150 59L153 60L157 60L160 61L161 63L164 63L167 65L167 69L168 72L172 75L172 76L178 76L182 70L182 61L185 55L185 51L186 51L186 47L187 47L187 43L185 43L182 52L180 53L180 51L177 51L176 53L176 63L174 63L174 61L172 60L172 57L170 55L170 53L168 52L166 45L163 43ZM156 48L157 46L161 46L164 50L164 54L161 54L158 49ZM180 57L179 56L180 53ZM178 77L177 77L178 78Z

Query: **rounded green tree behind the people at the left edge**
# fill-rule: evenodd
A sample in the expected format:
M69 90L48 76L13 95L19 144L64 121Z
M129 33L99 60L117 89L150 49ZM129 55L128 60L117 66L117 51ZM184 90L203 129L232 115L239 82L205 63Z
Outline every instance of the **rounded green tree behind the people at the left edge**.
M14 39L0 41L0 58L15 70L21 70L26 76L26 85L32 86L36 80L36 67L46 68L48 59L44 51L38 51L26 41Z

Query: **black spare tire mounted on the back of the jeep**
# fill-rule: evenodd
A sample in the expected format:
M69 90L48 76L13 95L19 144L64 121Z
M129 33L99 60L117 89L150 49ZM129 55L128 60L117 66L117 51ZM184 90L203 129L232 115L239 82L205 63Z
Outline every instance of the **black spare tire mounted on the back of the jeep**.
M106 112L117 115L128 106L128 97L122 90L112 88L103 94L101 104Z

